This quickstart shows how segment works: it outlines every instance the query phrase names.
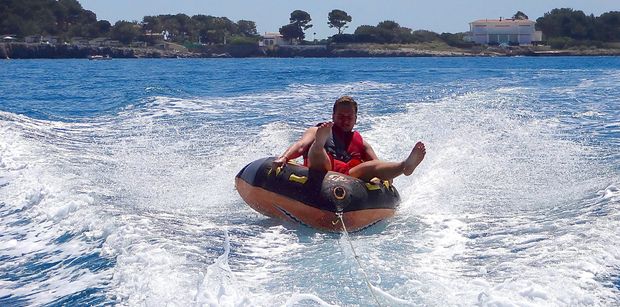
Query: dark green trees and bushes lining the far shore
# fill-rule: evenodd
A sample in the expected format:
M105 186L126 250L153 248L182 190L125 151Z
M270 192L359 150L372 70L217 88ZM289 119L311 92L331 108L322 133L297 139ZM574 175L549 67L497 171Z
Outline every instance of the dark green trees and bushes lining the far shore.
M528 19L518 11L513 19ZM299 45L434 45L471 49L477 46L466 41L466 32L435 33L413 30L393 20L376 26L361 25L353 33L343 33L354 19L343 10L329 12L326 21L337 33L320 41L306 40L312 28L310 14L295 10L289 23L279 32L284 39ZM543 32L543 41L553 49L616 47L620 42L620 11L600 16L583 11L558 8L536 19L536 29ZM162 42L200 51L208 45L257 45L261 36L256 23L232 21L227 17L185 14L144 16L142 21L118 21L112 25L98 20L94 12L85 10L77 0L0 0L0 34L5 38L24 41L29 36L55 37L56 41L72 42L76 38L97 38L118 42L120 46L155 46ZM65 43L66 44L66 43ZM616 47L617 48L617 47Z

